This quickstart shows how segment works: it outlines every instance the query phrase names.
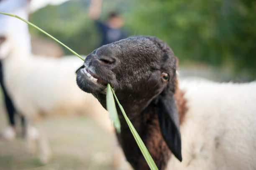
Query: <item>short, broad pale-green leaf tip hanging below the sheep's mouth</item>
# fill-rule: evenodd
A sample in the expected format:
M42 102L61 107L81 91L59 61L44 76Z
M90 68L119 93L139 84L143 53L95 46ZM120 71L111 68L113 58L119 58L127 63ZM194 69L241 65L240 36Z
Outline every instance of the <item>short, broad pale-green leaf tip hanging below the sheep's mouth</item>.
M113 97L113 93L111 92L110 84L108 84L108 86L107 86L106 100L107 100L107 110L109 112L110 120L113 122L116 131L118 133L120 133L121 125L120 125L120 121L118 119L118 114L117 114L116 107L115 107L115 100Z

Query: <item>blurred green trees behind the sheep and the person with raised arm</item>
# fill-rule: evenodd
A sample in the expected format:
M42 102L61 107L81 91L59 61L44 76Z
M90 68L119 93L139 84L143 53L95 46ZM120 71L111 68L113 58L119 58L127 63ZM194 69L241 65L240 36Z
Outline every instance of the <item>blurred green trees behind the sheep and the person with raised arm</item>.
M31 21L74 51L87 54L100 42L88 5L89 1L72 0L47 6L33 13ZM254 0L103 0L101 18L113 9L123 13L128 36L159 37L181 64L200 61L256 77Z

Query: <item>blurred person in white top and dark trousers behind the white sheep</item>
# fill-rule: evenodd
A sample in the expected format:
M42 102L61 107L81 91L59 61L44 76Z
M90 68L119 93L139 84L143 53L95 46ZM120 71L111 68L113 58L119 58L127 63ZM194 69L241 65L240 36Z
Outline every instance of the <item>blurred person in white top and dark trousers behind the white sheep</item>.
M28 20L29 3L30 0L0 0L0 11L15 14L25 20ZM30 34L28 32L28 25L26 23L18 20L17 18L0 14L0 25L1 36L11 35L13 38L15 38L15 41L19 46L21 46L24 50L31 52ZM8 113L9 126L2 130L1 136L6 140L12 140L16 136L15 114L17 114L17 112L3 82L4 79L1 63L1 60L3 59L4 58L1 58L0 56L0 84L3 90L6 111ZM24 133L24 117L20 114L18 115L21 117Z

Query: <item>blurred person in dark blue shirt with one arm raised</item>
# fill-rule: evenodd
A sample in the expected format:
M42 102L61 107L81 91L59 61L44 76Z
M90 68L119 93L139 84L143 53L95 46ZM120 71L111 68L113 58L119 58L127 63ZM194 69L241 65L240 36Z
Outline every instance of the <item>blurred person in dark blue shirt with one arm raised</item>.
M124 20L118 12L111 12L105 23L101 23L100 18L102 0L91 0L89 6L89 17L95 21L102 36L100 46L125 38L125 33L121 30Z

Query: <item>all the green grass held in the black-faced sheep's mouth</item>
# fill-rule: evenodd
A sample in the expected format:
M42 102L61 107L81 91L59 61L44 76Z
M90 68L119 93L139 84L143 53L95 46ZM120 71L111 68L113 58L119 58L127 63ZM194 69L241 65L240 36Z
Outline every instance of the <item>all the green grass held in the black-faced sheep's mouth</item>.
M64 46L65 48L67 48L69 51L71 51L73 54L75 54L76 56L78 56L79 58L81 58L83 61L84 61L84 58L82 58L81 56L79 56L79 54L77 54L76 52L74 52L71 48L69 48L68 46L66 46L64 43L61 43L61 41L57 40L56 38L54 38L53 36L51 36L49 33L45 32L44 30L42 30L41 28L39 28L38 26L34 25L33 23L30 23L28 22L27 20L24 20L23 18L20 18L19 16L17 15L13 15L13 14L10 14L10 13L3 13L3 12L0 12L1 14L4 14L4 15L9 15L11 17L15 17L15 18L18 18L20 20L23 20L25 23L33 26L34 28L40 30L42 33L46 34L47 36L51 37L52 39L54 39L55 41L57 41L58 43L60 43L62 46ZM154 160L152 159L152 157L150 156L146 146L144 145L144 143L142 142L141 140L141 137L138 135L136 129L133 127L133 124L131 123L131 121L129 120L129 118L126 116L125 114L125 111L123 110L123 107L121 106L121 104L119 103L116 95L115 95L115 92L114 90L112 89L112 87L110 86L110 84L108 84L107 86L107 95L106 95L106 101L107 101L107 109L108 109L108 112L110 114L110 119L111 121L113 122L114 124L114 127L116 128L117 132L120 133L121 130L120 130L120 121L118 119L118 114L117 114L117 110L116 110L116 107L115 107L115 100L114 100L114 97L113 95L115 96L115 100L117 101L118 103L118 106L120 107L121 109L121 112L123 113L123 116L133 134L133 137L134 139L136 140L137 144L138 144L138 147L140 148L143 156L145 157L146 159L146 162L148 163L148 166L150 167L151 170L158 170L158 168L156 167L156 164L154 162Z

